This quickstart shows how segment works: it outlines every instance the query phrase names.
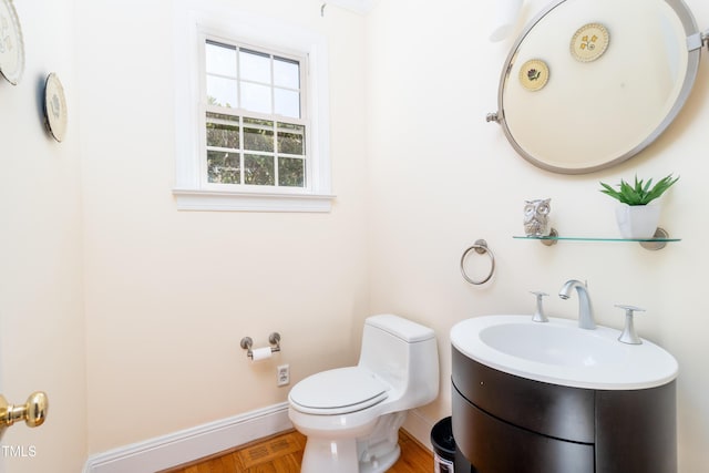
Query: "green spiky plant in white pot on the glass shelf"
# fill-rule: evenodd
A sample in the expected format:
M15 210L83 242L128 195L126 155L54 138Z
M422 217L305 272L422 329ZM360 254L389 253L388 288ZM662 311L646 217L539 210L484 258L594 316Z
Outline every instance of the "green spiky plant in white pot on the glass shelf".
M651 178L644 182L644 179L638 179L636 175L635 185L620 179L617 188L606 183L600 183L603 186L600 192L620 203L616 207L616 220L624 238L643 239L655 236L660 218L660 206L648 204L665 194L665 191L670 188L678 179L679 177L672 177L669 174L653 185Z

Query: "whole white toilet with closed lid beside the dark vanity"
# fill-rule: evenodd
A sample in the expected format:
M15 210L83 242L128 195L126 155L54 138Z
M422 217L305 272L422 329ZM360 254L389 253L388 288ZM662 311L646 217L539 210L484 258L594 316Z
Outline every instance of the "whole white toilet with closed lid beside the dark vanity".
M433 330L393 315L369 317L356 367L312 374L288 394L288 417L307 436L300 471L387 471L401 453L407 410L438 393Z

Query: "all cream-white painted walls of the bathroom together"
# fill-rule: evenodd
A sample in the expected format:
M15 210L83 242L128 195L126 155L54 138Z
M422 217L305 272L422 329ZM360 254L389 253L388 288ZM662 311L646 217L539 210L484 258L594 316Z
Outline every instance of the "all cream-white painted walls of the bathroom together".
M648 309L638 330L680 363L680 471L709 463L706 52L690 103L656 144L571 177L532 167L484 122L511 42L486 41L477 3L379 0L366 20L335 6L321 17L316 0L225 3L328 38L331 214L175 210L171 1L17 4L28 63L20 85L0 81L0 381L12 402L41 389L52 405L40 429L7 431L3 444L39 451L8 471L79 471L86 451L284 401L277 363L290 363L296 382L353 362L362 319L377 311L439 335L442 392L421 410L432 424L450 413L450 328L530 311L528 290L555 294L572 277L588 279L602 323L621 323L616 302ZM688 3L706 27L709 6ZM38 94L51 71L70 100L62 144L41 123ZM613 234L613 203L597 183L635 172L681 175L662 217L681 243L650 253L512 239L522 202L542 196L562 234ZM483 287L458 268L476 238L497 257ZM577 310L558 298L547 308ZM284 351L248 364L239 339L265 343L274 330Z

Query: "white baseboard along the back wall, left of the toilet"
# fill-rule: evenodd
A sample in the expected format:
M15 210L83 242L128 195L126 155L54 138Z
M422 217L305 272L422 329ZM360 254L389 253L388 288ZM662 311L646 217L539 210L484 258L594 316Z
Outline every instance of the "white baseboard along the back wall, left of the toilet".
M292 429L288 403L274 404L91 455L84 473L153 473Z

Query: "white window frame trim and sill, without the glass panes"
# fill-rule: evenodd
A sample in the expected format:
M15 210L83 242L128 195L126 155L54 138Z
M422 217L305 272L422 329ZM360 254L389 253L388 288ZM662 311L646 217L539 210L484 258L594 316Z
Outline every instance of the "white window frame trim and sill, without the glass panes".
M219 7L212 0L175 2L175 183L182 210L330 212L331 194L327 41L286 21ZM204 44L225 38L307 56L309 125L307 186L249 186L230 191L205 185ZM218 41L218 40L217 40Z

